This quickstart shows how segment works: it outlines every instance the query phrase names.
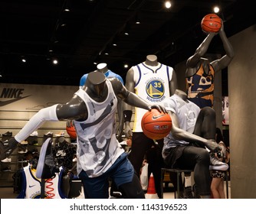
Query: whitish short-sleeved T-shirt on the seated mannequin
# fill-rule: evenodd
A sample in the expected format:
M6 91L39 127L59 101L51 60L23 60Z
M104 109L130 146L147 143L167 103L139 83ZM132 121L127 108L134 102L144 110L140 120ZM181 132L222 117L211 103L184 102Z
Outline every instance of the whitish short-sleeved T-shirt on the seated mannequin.
M200 108L195 103L186 101L174 94L173 96L162 102L162 105L167 111L174 112L179 120L179 128L182 130L193 133L195 130L195 122L199 116ZM187 141L176 140L172 137L172 133L164 138L163 150L166 148L173 148L180 144L189 144Z

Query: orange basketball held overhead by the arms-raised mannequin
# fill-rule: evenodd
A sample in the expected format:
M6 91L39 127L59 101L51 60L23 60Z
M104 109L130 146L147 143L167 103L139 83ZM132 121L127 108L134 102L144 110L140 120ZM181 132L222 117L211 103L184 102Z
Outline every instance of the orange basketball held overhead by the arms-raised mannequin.
M222 28L222 19L215 14L208 14L202 18L201 21L202 31L207 33L217 33Z

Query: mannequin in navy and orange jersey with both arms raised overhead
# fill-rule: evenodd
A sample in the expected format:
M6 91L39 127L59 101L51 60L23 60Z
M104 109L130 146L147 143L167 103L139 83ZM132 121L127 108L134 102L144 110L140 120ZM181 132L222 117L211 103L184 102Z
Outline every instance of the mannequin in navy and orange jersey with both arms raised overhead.
M213 91L214 91L214 77L215 73L224 69L231 63L234 58L234 50L231 46L224 31L224 24L218 31L222 39L222 43L226 54L218 60L210 62L207 58L203 58L212 38L216 33L209 33L202 44L195 50L194 55L189 57L186 66L185 78L187 83L187 92L189 100L195 102L200 108L205 106L213 106Z

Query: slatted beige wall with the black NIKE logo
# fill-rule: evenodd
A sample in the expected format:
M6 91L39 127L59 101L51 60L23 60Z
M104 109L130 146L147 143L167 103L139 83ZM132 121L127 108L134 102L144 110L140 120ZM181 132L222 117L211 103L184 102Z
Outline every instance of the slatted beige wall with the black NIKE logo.
M0 84L0 134L11 131L13 136L40 109L65 103L74 95L78 86L48 86L28 84ZM66 131L66 122L45 122L38 128L42 139L48 131L54 134ZM68 137L67 133L65 135Z

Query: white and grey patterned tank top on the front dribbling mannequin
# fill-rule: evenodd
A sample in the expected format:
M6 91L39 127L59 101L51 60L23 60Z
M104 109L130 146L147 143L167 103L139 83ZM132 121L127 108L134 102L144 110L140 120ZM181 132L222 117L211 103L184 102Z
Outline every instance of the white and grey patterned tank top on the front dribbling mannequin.
M115 112L117 96L110 81L106 81L108 96L103 102L91 99L83 89L75 94L87 105L88 118L74 121L77 131L77 174L84 170L88 177L99 177L123 154L116 137Z

